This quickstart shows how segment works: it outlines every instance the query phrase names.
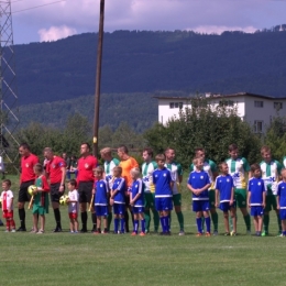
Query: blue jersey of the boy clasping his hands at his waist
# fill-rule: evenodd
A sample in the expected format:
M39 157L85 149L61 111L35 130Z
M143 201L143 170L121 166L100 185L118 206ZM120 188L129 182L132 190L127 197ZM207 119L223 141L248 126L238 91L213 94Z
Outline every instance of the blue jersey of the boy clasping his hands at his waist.
M201 189L206 185L210 184L210 178L208 173L206 173L205 170L194 170L189 174L188 184L194 189ZM193 193L193 200L209 200L208 189L204 190L198 196Z

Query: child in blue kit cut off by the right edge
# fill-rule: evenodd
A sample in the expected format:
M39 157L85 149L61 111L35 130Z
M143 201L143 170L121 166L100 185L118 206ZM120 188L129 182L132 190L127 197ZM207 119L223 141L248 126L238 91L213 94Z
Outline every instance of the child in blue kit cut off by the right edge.
M280 174L283 180L278 184L277 209L279 210L282 221L280 237L286 237L286 168Z

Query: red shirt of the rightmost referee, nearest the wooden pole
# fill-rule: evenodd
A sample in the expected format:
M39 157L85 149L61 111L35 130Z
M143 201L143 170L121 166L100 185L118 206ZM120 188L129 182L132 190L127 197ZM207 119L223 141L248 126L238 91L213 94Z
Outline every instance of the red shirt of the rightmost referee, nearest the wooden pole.
M95 180L94 168L98 165L97 158L88 155L78 160L77 169L77 182L90 182Z

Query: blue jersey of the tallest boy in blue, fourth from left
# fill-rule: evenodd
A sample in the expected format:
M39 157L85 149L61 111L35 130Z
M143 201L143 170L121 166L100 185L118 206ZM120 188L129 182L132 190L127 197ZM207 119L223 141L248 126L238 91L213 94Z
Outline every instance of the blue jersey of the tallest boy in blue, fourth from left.
M153 172L153 184L155 185L155 198L173 197L169 184L172 183L170 172L167 168Z

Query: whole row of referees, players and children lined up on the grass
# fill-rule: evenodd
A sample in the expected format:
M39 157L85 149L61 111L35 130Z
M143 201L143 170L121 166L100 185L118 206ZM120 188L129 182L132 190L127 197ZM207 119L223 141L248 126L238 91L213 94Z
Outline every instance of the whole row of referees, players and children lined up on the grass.
M33 228L36 233L44 232L45 213L48 211L48 193L51 195L56 228L54 232L62 231L59 198L65 191L66 163L62 157L53 154L52 148L44 148L44 166L38 164L38 158L31 153L28 144L19 147L21 154L21 184L18 198L20 228L18 231L26 231L25 228L25 202L33 201ZM183 180L183 168L175 161L175 150L168 147L164 154L158 154L153 160L151 148L144 148L144 160L139 168L138 162L129 155L127 146L118 147L117 160L112 157L111 148L100 151L105 161L102 167L98 167L98 161L90 155L88 143L80 145L78 160L77 180L69 180L68 187L68 212L70 218L70 231L78 231L77 216L80 212L81 230L87 232L87 206L92 207L92 232L101 232L101 219L103 219L103 233L109 232L114 215L114 232L129 232L129 211L132 215L133 232L138 234L139 222L141 221L141 235L150 232L151 211L153 213L154 231L162 226L162 234L168 235L170 223L170 211L176 212L179 223L179 235L185 234L184 216L182 212L180 184ZM193 193L193 210L196 212L198 234L202 235L206 222L206 235L211 235L210 218L213 224L212 234L218 234L217 209L223 211L226 235L237 234L235 207L239 207L245 222L246 232L251 232L251 218L248 211L248 204L251 207L251 215L254 217L256 235L267 235L270 224L270 211L276 211L278 221L278 234L285 235L284 218L284 185L277 184L280 179L283 165L272 158L271 150L262 147L262 162L260 165L250 167L245 158L239 156L239 148L235 144L229 146L230 158L217 165L206 158L202 147L195 150L195 160L190 165L188 189ZM284 158L284 167L286 160ZM140 178L142 173L142 179ZM253 177L249 180L248 177ZM257 179L257 182L255 182ZM260 180L262 179L262 182ZM284 180L283 176L283 180ZM50 185L47 184L50 180ZM2 210L7 219L7 231L14 231L13 204L9 180L2 183L3 191ZM33 191L33 199L29 195L29 187L36 185ZM250 185L253 184L253 185ZM255 188L253 186L256 186ZM260 187L258 187L260 186ZM254 188L254 190L253 190ZM278 188L280 188L278 190ZM277 196L277 190L278 196ZM261 191L261 193L260 193ZM249 194L249 196L248 196ZM253 195L254 194L254 195ZM257 195L260 194L260 195ZM249 198L248 198L249 197ZM255 201L257 200L257 201ZM282 200L282 201L280 201ZM278 202L278 204L277 204ZM279 210L280 209L280 210ZM209 213L210 212L210 213ZM232 218L232 231L229 228L229 212ZM40 218L41 228L37 227ZM204 222L205 218L205 222ZM262 221L264 231L262 232ZM282 223L283 222L283 223ZM120 224L120 229L119 229Z

